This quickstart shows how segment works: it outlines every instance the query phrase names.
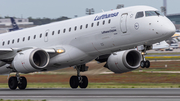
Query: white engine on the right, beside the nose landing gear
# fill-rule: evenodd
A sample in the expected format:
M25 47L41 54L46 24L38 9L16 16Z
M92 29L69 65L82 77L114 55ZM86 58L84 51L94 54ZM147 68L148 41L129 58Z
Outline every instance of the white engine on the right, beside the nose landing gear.
M107 61L107 68L114 73L124 73L137 69L142 60L136 50L126 50L111 54Z

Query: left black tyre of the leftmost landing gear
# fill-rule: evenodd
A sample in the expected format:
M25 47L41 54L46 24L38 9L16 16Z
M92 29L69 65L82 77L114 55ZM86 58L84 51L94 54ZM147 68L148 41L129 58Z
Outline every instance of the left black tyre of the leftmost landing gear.
M11 90L15 90L17 88L18 82L17 77L10 77L8 80L8 86Z

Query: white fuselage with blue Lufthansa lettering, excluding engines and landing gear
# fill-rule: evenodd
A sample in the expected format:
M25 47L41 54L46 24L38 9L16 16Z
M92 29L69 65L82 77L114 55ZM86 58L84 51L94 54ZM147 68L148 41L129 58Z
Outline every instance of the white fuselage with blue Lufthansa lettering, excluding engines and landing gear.
M65 53L50 54L46 69L54 70L84 64L99 55L151 45L174 34L174 25L165 16L136 19L140 11L157 9L135 6L4 33L0 35L0 48L63 48Z

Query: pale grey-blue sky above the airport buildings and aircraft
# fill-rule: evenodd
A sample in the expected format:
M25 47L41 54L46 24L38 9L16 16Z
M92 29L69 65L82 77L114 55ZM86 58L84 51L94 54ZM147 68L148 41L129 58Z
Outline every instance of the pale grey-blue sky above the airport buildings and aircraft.
M160 10L163 0L0 0L0 16L23 18L74 18L85 16L86 8L95 13L116 9L118 4L125 7L147 5ZM167 0L167 14L180 13L180 0Z

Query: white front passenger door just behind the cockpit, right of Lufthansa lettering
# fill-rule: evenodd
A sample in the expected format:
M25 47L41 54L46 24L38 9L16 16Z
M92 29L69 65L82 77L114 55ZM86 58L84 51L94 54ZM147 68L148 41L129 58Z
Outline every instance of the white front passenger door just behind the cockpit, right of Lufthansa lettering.
M127 13L124 13L124 14L121 15L120 27L121 27L121 31L123 33L127 32L127 16L128 16Z

